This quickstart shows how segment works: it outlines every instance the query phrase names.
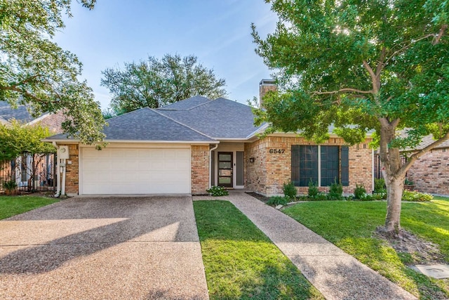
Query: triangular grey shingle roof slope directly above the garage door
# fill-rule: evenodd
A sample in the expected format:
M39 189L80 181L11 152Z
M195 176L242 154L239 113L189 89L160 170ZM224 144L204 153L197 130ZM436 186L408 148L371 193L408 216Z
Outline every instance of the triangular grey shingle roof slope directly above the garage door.
M105 141L214 141L148 107L108 119ZM66 138L65 134L50 139Z

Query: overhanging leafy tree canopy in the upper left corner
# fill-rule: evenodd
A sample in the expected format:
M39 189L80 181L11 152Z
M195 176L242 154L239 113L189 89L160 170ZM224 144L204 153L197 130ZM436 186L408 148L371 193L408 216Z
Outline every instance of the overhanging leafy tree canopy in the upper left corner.
M92 9L95 0L81 4ZM99 104L77 79L81 62L51 40L70 7L70 0L0 0L0 99L27 104L35 116L62 110L62 129L91 144L104 138Z

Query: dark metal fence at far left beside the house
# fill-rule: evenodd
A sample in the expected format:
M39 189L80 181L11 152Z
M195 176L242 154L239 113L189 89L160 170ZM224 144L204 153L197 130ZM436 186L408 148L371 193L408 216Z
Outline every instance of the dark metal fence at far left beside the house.
M54 154L25 154L0 162L0 193L11 183L15 183L16 193L55 191L55 161Z

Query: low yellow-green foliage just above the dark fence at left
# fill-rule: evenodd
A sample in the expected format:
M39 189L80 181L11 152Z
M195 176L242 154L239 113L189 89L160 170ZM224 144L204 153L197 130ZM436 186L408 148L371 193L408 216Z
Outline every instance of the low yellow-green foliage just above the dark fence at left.
M50 143L41 142L50 136L46 127L39 124L25 126L16 120L11 125L0 124L0 162L15 159L22 154L51 154L56 152Z

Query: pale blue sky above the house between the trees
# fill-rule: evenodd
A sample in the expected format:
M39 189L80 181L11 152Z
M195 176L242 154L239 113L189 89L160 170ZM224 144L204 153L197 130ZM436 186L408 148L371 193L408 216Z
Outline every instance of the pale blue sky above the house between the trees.
M226 79L227 98L241 103L258 96L259 81L270 77L250 36L251 22L262 37L274 32L276 15L263 0L98 0L93 11L72 3L73 18L55 41L79 57L81 79L102 109L111 99L100 86L102 70L148 56L194 54Z

